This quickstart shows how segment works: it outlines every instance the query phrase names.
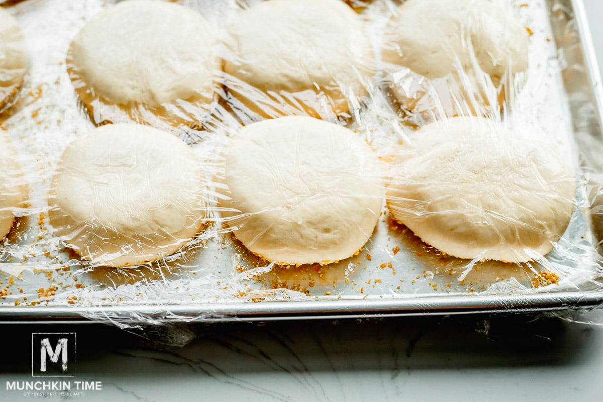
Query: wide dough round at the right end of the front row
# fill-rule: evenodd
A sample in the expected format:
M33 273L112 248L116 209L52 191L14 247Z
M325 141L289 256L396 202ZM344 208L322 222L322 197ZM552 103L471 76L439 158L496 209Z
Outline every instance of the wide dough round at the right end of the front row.
M525 262L552 250L576 198L555 149L482 118L428 124L415 138L387 192L394 219L455 257Z

